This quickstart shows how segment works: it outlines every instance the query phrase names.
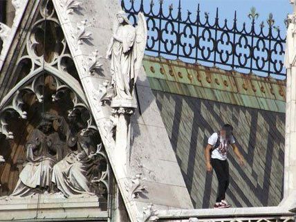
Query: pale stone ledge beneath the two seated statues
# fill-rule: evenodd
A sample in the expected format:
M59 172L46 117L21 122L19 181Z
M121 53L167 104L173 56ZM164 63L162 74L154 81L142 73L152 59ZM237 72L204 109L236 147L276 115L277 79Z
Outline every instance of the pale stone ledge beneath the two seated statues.
M107 219L98 196L57 198L41 195L0 201L0 221L32 219Z

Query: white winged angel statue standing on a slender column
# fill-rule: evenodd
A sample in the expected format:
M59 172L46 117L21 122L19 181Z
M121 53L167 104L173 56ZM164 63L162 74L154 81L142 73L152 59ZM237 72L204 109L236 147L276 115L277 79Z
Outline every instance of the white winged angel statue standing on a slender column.
M138 26L134 28L124 11L116 14L117 21L107 50L107 58L111 58L111 84L115 89L112 107L129 107L129 103L133 104L133 86L142 66L147 41L145 17L139 13L138 18Z

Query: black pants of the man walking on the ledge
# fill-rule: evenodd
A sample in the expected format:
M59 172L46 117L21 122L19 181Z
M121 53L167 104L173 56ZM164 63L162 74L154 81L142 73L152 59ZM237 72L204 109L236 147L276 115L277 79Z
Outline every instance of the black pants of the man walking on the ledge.
M216 203L225 199L225 192L229 185L229 166L227 160L219 160L211 158L212 167L218 178L218 194Z

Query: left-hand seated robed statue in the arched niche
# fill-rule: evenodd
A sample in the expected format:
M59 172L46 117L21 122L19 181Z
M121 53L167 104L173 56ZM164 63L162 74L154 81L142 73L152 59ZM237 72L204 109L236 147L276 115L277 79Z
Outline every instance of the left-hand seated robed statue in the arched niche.
M41 116L40 124L26 142L28 163L19 174L19 181L11 196L50 192L53 165L62 158L63 143L53 129L53 120L57 116L50 113L42 113Z

